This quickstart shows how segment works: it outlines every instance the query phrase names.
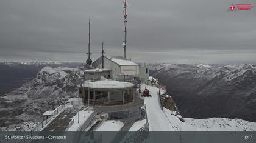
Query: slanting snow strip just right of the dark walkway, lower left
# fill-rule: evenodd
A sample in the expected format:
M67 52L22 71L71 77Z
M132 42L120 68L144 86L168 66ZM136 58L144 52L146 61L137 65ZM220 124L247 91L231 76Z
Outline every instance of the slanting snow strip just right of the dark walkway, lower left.
M74 124L68 128L68 131L77 131L84 124L84 122L87 121L92 113L93 111L79 111L76 116L74 116Z

